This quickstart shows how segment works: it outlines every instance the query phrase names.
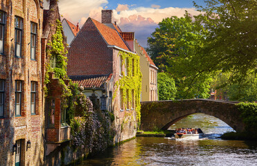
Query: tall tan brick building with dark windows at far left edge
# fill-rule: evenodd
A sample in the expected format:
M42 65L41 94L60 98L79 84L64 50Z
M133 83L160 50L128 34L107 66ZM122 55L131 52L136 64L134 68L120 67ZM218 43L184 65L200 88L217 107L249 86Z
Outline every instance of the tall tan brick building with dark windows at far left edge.
M41 0L1 1L0 165L42 165Z

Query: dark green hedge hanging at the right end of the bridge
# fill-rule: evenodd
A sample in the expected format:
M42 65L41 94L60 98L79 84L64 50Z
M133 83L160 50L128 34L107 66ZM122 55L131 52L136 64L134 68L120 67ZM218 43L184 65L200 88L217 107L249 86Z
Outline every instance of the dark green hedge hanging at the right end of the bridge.
M257 103L254 102L240 102L237 104L243 122L246 124L246 131L254 133L256 136L257 129Z

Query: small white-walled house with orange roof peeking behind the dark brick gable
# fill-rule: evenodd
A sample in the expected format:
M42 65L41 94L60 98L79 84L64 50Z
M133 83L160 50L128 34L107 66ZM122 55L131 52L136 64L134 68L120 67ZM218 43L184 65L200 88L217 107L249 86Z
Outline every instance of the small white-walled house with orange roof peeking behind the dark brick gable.
M71 44L72 40L76 37L80 28L77 25L74 25L68 19L62 19L62 28L64 31L64 36L67 37L67 44Z

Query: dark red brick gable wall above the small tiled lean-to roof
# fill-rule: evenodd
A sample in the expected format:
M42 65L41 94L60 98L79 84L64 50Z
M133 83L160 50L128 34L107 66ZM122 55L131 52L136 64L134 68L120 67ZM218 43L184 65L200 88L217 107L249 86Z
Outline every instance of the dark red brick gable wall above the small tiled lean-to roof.
M73 40L68 53L68 75L105 75L112 73L112 49L88 19Z

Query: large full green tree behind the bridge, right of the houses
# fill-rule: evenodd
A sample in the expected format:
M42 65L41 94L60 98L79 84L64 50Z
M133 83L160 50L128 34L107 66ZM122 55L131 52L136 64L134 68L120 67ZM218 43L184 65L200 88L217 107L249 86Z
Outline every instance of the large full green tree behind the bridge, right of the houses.
M209 31L186 12L181 18L163 19L148 38L148 53L161 71L175 78L178 99L209 97L213 73L202 52L207 35Z

